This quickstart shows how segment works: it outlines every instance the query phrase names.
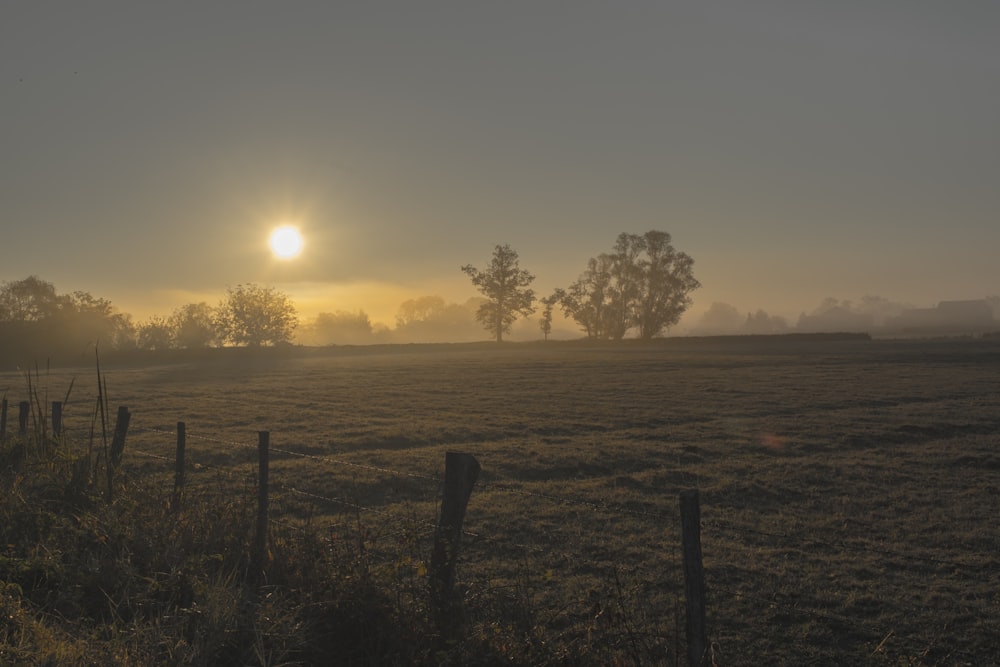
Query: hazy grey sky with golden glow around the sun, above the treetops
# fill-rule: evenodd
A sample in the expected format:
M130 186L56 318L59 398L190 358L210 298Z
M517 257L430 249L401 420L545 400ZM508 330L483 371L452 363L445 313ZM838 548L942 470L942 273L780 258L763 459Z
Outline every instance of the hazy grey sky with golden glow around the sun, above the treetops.
M990 0L5 0L0 281L391 322L498 243L545 294L661 229L694 313L981 298L998 123Z

